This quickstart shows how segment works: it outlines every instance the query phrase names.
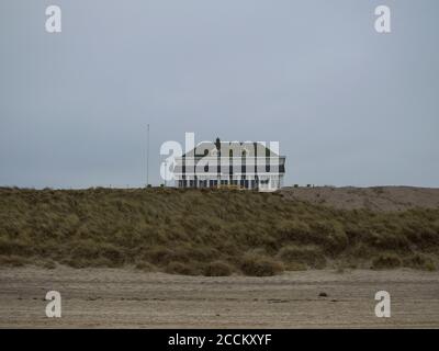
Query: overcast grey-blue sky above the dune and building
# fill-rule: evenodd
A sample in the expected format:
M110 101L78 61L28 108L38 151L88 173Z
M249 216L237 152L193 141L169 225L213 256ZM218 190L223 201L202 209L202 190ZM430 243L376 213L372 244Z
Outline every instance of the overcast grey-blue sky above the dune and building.
M61 9L61 33L45 10ZM387 5L392 32L374 29ZM143 186L160 146L279 141L285 185L439 186L437 0L2 0L0 185Z

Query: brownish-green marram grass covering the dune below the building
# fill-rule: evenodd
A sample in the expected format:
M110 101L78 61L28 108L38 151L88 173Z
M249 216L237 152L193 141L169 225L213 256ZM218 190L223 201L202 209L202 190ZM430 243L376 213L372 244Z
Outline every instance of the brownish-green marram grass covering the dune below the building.
M226 190L0 189L0 265L133 265L211 276L434 270L439 208L374 213Z

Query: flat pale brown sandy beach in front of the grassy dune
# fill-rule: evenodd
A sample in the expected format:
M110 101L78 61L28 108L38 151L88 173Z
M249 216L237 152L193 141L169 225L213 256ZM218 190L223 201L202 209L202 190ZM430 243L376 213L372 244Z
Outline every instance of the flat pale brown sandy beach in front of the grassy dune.
M61 318L47 318L47 291ZM376 291L392 317L374 315ZM320 297L326 293L326 297ZM439 328L439 273L288 272L203 278L131 269L0 269L2 328Z

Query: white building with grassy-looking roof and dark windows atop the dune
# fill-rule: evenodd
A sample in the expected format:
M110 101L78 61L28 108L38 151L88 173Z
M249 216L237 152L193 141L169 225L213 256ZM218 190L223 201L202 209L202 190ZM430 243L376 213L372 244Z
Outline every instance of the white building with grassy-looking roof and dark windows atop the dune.
M234 188L275 191L283 185L285 157L263 143L200 143L176 158L177 188Z

